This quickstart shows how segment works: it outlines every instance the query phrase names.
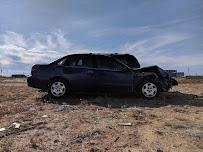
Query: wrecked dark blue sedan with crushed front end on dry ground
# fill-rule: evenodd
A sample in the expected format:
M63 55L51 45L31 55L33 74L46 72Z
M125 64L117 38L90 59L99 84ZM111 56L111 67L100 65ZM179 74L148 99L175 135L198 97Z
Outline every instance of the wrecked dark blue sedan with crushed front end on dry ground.
M28 86L53 98L71 93L138 94L154 98L177 81L158 66L140 67L130 54L71 54L47 65L34 65Z

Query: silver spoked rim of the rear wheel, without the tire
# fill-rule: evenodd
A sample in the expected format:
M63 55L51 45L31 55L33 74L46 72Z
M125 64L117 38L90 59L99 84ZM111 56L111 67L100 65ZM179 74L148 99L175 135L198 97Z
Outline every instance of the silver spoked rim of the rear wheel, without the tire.
M65 94L66 92L66 86L62 82L54 82L51 85L51 93L55 97L61 97Z

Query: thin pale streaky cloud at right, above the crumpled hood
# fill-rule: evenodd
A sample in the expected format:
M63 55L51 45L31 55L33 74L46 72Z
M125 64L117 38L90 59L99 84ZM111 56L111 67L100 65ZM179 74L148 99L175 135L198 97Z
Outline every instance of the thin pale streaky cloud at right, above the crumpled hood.
M133 43L126 43L122 47L122 52L134 54L143 65L167 65L167 66L192 66L203 65L203 54L171 54L168 46L177 45L190 36L182 33L161 33L148 39ZM165 48L167 47L167 49ZM171 50L175 52L176 50Z

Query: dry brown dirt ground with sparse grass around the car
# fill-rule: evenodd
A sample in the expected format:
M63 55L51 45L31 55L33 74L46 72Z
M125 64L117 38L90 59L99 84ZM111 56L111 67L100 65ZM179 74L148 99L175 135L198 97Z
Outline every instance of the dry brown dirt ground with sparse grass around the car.
M0 78L0 151L203 151L203 80L179 82L154 100L53 100L25 79Z

